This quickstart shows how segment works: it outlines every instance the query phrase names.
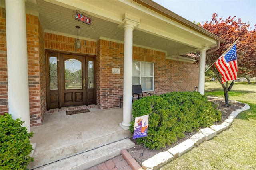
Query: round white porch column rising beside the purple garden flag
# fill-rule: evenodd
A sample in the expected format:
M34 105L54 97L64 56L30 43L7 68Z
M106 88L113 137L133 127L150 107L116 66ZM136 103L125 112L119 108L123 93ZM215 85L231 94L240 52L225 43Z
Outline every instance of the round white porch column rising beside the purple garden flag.
M125 24L124 28L124 93L123 121L120 126L129 129L132 121L132 31L134 26Z

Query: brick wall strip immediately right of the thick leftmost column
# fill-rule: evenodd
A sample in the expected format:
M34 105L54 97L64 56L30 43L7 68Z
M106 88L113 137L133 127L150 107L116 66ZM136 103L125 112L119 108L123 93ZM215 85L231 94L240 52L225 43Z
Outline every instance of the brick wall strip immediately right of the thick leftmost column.
M43 90L41 86L43 86L43 84L40 82L40 71L42 71L44 63L40 63L40 55L42 55L42 52L40 53L40 51L42 51L42 47L39 46L39 29L42 28L40 28L37 16L26 14L26 29L28 48L30 126L37 126L42 124L42 116L46 114L46 112L41 112L40 97L42 93L41 90Z

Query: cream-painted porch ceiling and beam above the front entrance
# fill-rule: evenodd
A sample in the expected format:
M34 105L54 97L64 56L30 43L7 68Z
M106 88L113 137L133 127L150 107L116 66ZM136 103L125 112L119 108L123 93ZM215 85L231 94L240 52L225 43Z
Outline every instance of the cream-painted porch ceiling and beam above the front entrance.
M76 22L72 18L75 10L92 16L93 25L88 27ZM120 25L124 14L129 14L140 22L133 31L134 45L166 51L167 57L174 57L177 52L182 55L198 51L204 46L214 47L217 43L216 39L205 33L171 20L135 1L27 0L26 12L39 16L44 32L76 38L75 26L79 25L80 39L110 39L117 42L124 41L124 30Z

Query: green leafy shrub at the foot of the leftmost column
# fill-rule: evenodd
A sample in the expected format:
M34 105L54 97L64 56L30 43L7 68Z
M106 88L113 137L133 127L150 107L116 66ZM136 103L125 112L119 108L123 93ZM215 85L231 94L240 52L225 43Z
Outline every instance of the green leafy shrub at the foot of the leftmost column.
M33 132L28 133L23 123L7 113L0 116L0 167L3 169L24 170L33 161L29 156L32 151L29 138Z

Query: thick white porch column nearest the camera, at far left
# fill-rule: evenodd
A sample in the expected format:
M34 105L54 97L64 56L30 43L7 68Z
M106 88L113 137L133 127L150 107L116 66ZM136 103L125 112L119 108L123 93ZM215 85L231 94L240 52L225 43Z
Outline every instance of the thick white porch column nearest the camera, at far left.
M30 132L25 0L6 0L8 107Z

